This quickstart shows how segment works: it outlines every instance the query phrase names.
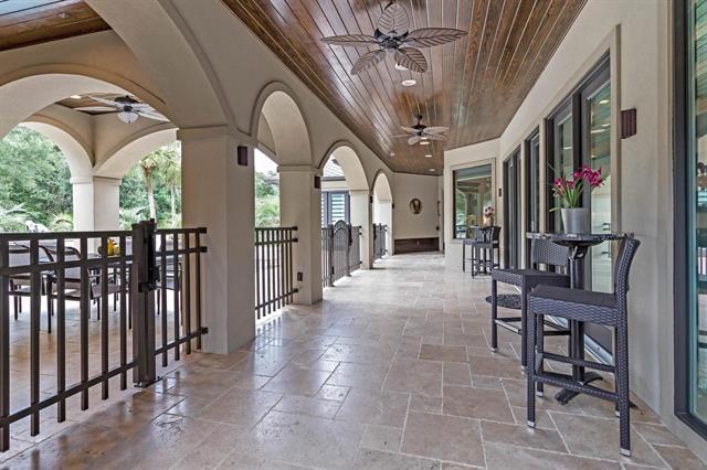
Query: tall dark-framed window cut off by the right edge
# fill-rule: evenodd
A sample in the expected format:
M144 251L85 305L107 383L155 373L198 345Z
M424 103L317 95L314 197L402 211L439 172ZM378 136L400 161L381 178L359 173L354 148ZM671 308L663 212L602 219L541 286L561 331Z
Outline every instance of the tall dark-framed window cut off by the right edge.
M707 438L707 0L674 4L675 413Z

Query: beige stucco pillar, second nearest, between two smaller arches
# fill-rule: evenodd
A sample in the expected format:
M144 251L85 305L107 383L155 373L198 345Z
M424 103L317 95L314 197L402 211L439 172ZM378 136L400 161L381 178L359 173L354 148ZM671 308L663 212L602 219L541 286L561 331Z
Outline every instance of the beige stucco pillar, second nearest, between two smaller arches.
M315 188L319 170L309 165L279 165L279 224L297 227L293 250L297 289L295 303L321 300L321 191ZM300 277L302 276L302 277Z

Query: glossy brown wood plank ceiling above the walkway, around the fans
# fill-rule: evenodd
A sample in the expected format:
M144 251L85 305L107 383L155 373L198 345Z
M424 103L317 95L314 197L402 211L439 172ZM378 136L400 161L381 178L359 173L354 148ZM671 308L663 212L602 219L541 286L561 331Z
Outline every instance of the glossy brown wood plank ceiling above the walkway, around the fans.
M424 74L398 71L389 56L359 75L350 70L367 49L320 39L371 35L388 0L222 1L392 170L439 174L445 148L500 136L585 0L399 0L411 29L468 34L423 49ZM418 84L404 87L405 78ZM409 147L395 138L418 114L450 127L449 140Z

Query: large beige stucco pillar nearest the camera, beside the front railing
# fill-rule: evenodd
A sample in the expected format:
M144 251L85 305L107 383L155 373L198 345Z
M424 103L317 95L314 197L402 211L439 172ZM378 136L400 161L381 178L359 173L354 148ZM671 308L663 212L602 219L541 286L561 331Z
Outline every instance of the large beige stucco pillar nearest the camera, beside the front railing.
M203 348L229 353L255 335L253 148L238 163L225 126L180 129L182 225L207 227L201 263ZM192 296L193 298L194 296Z

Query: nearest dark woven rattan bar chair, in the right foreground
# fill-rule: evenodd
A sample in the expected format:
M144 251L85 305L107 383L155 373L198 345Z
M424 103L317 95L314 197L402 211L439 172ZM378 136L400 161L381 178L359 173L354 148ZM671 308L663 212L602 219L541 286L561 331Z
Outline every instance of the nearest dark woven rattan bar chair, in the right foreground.
M619 414L621 453L631 456L630 415L629 415L629 325L626 295L629 291L629 271L641 242L626 236L621 242L614 264L613 293L593 292L566 287L540 286L528 296L528 308L536 321L529 321L528 339L528 426L535 427L535 389L550 384L572 392L612 400ZM542 329L544 317L550 314L580 322L602 324L615 329L614 365L600 364L578 357L568 357L545 352ZM572 381L570 376L545 372L544 361L555 361L614 374L614 392Z

